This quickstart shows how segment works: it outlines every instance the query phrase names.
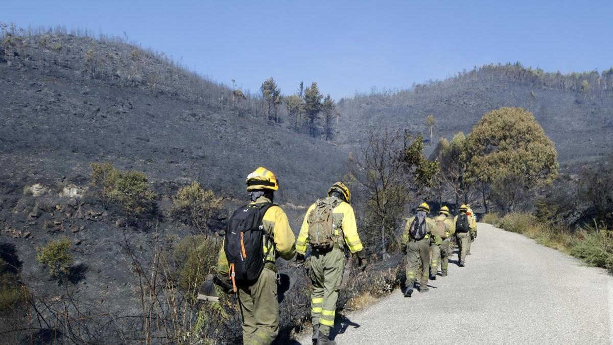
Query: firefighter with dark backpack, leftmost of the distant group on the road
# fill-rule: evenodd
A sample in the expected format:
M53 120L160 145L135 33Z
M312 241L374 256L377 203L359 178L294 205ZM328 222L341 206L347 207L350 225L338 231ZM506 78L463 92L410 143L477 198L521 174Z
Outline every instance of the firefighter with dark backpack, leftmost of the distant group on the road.
M402 233L400 252L406 254L406 292L405 297L411 297L417 268L421 263L422 276L419 281L419 292L428 290L428 271L430 268L430 236L435 223L428 218L430 206L422 203L417 207L417 214L406 220Z

